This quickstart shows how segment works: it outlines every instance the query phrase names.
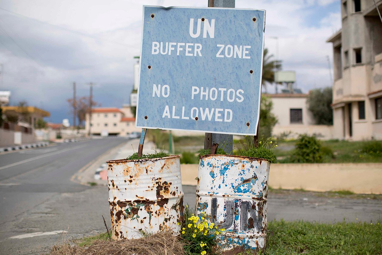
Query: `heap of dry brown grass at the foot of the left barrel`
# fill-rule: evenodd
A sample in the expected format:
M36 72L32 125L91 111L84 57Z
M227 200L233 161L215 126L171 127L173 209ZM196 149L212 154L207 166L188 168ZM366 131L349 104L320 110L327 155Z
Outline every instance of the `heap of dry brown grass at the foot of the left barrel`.
M183 243L172 232L162 232L147 235L141 239L130 239L121 241L95 240L91 245L80 247L79 245L55 245L50 255L183 255Z

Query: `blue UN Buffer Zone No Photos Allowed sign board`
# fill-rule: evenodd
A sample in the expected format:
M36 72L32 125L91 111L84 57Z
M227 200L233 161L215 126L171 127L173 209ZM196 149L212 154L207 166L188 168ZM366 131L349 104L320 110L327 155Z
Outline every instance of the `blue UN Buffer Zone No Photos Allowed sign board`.
M136 126L256 135L265 10L143 7Z

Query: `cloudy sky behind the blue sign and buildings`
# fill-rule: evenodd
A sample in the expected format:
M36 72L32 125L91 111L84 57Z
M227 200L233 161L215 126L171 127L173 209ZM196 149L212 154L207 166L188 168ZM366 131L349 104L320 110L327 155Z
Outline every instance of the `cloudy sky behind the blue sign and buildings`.
M142 5L207 6L208 0L2 0L0 2L0 89L11 103L26 100L62 122L66 99L77 95L105 107L129 103L134 56L140 54ZM265 9L265 47L295 70L297 87L330 86L326 43L341 28L340 0L236 0L236 8ZM273 92L273 86L269 86Z

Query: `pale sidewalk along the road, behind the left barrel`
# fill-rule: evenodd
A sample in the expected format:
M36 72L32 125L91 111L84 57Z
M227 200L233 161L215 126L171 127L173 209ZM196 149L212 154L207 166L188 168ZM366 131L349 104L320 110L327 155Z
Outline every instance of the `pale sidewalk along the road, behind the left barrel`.
M80 169L76 174L71 177L73 182L78 182L83 185L107 185L107 164L106 161L115 159L125 159L134 152L138 151L139 138L128 140L122 146L117 146L107 152L102 156L90 162L82 169ZM143 153L154 153L155 149L154 143L151 141L145 141ZM97 179L95 179L97 178Z

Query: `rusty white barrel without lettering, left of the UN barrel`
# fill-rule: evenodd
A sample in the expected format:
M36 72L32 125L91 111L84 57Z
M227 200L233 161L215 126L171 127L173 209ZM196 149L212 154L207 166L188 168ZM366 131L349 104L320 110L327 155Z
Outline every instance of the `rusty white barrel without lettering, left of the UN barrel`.
M113 239L173 230L183 220L179 156L107 161Z

